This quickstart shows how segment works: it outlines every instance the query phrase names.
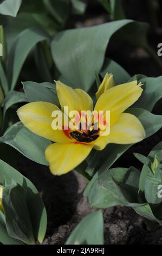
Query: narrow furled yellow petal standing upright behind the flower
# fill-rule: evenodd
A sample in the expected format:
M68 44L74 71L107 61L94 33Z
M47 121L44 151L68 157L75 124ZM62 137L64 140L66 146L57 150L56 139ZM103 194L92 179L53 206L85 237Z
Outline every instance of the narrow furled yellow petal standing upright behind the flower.
M106 73L102 83L99 86L98 92L96 92L96 98L99 99L102 93L114 86L113 75Z

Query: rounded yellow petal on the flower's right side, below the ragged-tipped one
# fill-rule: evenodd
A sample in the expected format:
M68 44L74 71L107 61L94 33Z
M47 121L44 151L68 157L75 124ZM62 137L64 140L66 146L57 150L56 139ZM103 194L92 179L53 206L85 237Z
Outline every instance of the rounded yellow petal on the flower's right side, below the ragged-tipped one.
M142 141L146 136L144 127L135 115L123 113L111 126L108 143L133 144Z

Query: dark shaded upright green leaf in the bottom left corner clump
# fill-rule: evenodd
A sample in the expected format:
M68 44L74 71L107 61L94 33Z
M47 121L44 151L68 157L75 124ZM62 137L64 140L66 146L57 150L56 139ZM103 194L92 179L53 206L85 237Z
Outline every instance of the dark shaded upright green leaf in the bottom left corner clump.
M3 208L8 234L28 245L35 244L24 188L16 184L5 186Z

